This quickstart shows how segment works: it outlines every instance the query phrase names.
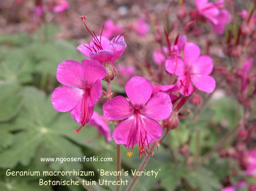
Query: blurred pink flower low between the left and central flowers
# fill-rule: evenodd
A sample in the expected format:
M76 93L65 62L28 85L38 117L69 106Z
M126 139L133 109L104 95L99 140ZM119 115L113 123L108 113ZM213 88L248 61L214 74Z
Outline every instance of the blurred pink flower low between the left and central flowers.
M108 142L111 142L111 131L108 126L109 120L94 111L88 123L90 125L96 126L99 133L103 135Z

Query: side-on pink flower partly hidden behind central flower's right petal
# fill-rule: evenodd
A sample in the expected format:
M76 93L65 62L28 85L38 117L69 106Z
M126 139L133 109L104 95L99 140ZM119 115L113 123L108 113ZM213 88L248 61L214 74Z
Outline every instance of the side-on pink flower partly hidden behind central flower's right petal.
M152 96L155 96L155 94L157 94L158 92L165 92L170 96L171 101L173 102L178 98L178 96L176 96L174 94L169 94L169 93L176 92L177 90L178 90L178 86L176 84L174 84L174 85L153 84Z

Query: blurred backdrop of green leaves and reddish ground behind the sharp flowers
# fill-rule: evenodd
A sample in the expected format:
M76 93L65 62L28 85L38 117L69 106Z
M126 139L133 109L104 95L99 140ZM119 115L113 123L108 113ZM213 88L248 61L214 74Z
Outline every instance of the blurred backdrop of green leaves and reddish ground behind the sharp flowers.
M211 75L216 80L216 90L212 94L196 92L191 96L182 110L184 116L178 119L178 128L168 133L146 166L150 171L161 169L157 178L142 176L133 190L215 191L224 187L233 187L234 191L256 190L255 173L246 174L249 154L255 151L256 144L255 64L246 74L250 76L252 96L242 94L237 74L246 59L255 57L255 25L252 33L246 34L247 39L241 38L251 43L228 44L229 37L235 36L234 31L236 35L239 33L243 22L237 13L250 5L255 8L255 4L249 0L233 0L232 3L226 3L226 9L235 19L222 36L204 19L184 30L187 41L201 48L201 55L212 57ZM100 177L97 169L115 171L114 140L106 141L98 136L96 127L88 124L76 135L73 129L78 129L79 124L69 112L54 110L50 101L52 91L60 85L56 79L58 64L63 60L86 59L76 47L89 43L91 36L79 17L87 16L88 28L97 35L104 24L103 35L109 39L125 31L126 51L115 62L118 73L112 82L114 97L126 96L124 85L134 75L145 76L154 83L168 76L164 68L155 63L152 54L161 43L167 46L164 28L173 43L177 34L193 20L190 13L195 9L193 0L1 0L0 190L115 190L115 186L97 189L82 185L39 186L39 178L68 180L75 177L6 176L6 170L91 170L95 176L81 178L96 181L106 178ZM105 82L102 86L106 89ZM105 102L102 96L95 106L95 111L101 115ZM244 118L246 123L241 122ZM113 131L114 124L109 126ZM134 150L133 156L128 158L126 152L127 148L121 145L122 168L138 169L143 157L140 159L139 152ZM83 156L112 157L113 162L40 160L41 157ZM253 170L255 156L251 157ZM235 186L239 181L243 181L244 186ZM125 188L122 186L122 190Z

